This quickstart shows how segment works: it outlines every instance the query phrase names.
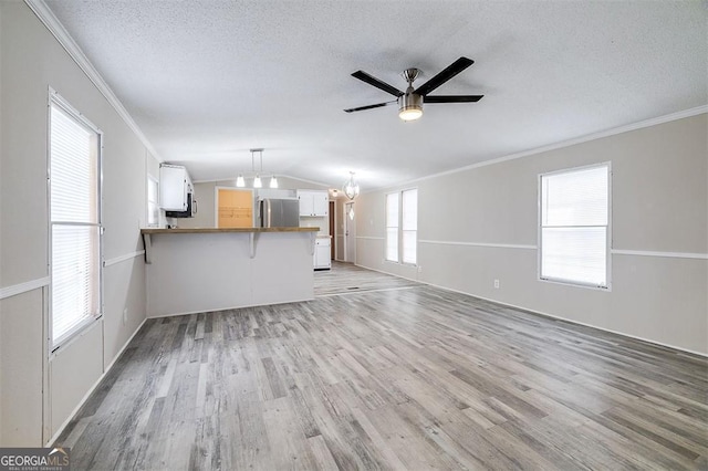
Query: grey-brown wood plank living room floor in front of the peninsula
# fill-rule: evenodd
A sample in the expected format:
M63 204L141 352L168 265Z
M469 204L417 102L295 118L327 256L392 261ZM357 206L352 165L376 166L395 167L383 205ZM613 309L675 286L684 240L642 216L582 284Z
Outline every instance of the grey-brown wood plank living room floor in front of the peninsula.
M705 358L416 285L148 320L54 444L76 470L706 469L707 399Z

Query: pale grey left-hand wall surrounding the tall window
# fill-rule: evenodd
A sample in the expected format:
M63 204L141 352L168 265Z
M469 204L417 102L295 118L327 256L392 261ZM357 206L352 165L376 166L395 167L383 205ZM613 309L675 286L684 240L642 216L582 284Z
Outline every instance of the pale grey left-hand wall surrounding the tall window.
M48 97L104 133L104 317L49 359ZM146 175L157 163L23 2L0 2L0 446L44 444L145 320ZM127 310L126 320L123 320ZM44 391L44 393L43 393Z

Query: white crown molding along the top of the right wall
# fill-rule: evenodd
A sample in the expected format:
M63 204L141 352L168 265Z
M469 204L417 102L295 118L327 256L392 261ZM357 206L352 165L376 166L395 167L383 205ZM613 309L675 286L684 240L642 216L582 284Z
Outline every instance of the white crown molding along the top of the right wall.
M477 164L471 164L471 165L468 165L468 166L465 166L465 167L459 167L459 168L454 168L451 170L440 171L438 174L433 174L433 175L428 175L428 176L425 176L425 177L416 178L416 179L413 179L413 180L407 180L407 181L404 181L402 184L392 185L392 186L388 186L388 187L385 187L385 188L378 188L378 189L371 190L371 191L362 191L362 193L364 195L364 193L376 192L376 191L388 191L388 190L393 190L393 189L396 189L396 188L410 186L410 185L416 184L418 181L429 180L431 178L444 177L446 175L452 175L452 174L458 174L460 171L471 170L471 169L475 169L475 168L487 167L489 165L501 164L502 161L507 161L507 160L516 160L518 158L529 157L529 156L533 156L533 155L542 154L542 153L548 153L550 150L562 149L564 147L571 147L571 146L574 146L576 144L587 143L587 142L591 142L591 140L601 139L603 137L615 136L617 134L628 133L631 130L643 129L645 127L656 126L656 125L664 124L664 123L670 123L673 121L684 119L684 118L687 118L687 117L697 116L697 115L705 114L705 113L708 113L708 105L700 105L700 106L696 106L694 108L688 108L688 109L684 109L684 111L680 111L680 112L670 113L668 115L658 116L658 117L641 121L641 122L637 122L637 123L627 124L627 125L624 125L624 126L613 127L611 129L601 130L598 133L587 134L585 136L576 137L574 139L562 140L560 143L549 144L548 146L537 147L534 149L523 150L523 151L520 151L520 153L517 153L517 154L511 154L511 155L508 155L508 156L498 157L498 158L493 158L493 159L490 159L490 160L480 161L480 163L477 163Z

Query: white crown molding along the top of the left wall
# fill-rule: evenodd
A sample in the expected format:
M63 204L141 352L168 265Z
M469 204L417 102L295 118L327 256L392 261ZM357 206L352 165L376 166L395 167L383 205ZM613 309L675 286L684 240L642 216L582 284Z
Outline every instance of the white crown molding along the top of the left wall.
M143 145L147 148L150 155L156 158L158 161L163 161L159 158L157 151L150 144L150 142L145 137L143 130L135 123L131 114L125 109L121 101L113 93L108 84L103 80L98 71L93 66L88 57L83 53L79 44L73 40L73 38L69 34L66 29L62 25L62 23L56 19L52 10L44 3L43 0L24 0L28 7L34 12L37 18L46 27L50 33L59 41L62 48L69 53L71 59L79 65L79 69L83 71L84 74L88 77L88 80L94 84L98 92L108 101L111 106L116 111L116 113L123 118L125 124L131 128L133 133L140 139Z

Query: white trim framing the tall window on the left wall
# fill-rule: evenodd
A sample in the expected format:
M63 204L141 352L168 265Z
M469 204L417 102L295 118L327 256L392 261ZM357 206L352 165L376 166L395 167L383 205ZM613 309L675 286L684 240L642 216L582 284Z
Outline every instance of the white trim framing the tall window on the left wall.
M51 191L50 176L51 176L51 165L52 165L52 149L51 149L50 143L51 143L51 136L52 136L52 119L51 119L52 105L55 105L62 108L62 111L67 113L71 117L79 121L91 130L95 132L98 138L98 156L96 158L97 165L98 165L98 171L97 171L98 214L97 214L97 224L96 224L98 227L98 299L100 299L98 314L95 316L85 318L84 321L75 325L69 332L65 332L61 337L56 339L53 338L53 334L52 334L53 318L52 318L52 299L51 299L51 290L52 290L52 281L51 281L51 278L52 278L52 265L51 265L52 263L52 214L51 214L52 200L51 198L52 198L52 191ZM103 147L104 147L104 143L103 143L103 139L104 139L103 132L97 126L95 126L92 122L90 122L76 108L71 106L69 102L66 102L66 100L62 97L51 86L49 87L49 100L46 103L46 143L48 143L46 145L46 214L48 214L46 253L49 254L48 271L49 271L49 278L50 278L50 285L49 285L50 297L48 299L48 307L46 307L48 316L46 316L45 332L46 332L48 352L50 355L53 355L61 347L73 342L74 338L76 338L82 333L84 333L95 322L102 321L103 314L105 312L104 286L103 286L103 282L104 282L103 266L104 266L104 260L105 260L104 253L103 253L103 245L104 245L103 244L103 232L104 232L104 228L103 228Z

